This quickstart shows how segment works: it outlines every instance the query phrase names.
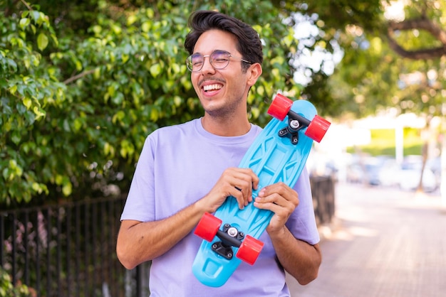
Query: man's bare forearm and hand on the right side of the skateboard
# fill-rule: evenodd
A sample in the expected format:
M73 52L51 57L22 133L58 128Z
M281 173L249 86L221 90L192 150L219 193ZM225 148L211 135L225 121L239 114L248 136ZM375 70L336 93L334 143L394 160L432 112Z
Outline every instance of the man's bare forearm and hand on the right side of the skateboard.
M299 284L308 284L316 279L322 257L318 244L311 245L296 239L285 225L298 205L296 191L284 183L266 186L255 202L256 207L274 212L266 232L281 265Z

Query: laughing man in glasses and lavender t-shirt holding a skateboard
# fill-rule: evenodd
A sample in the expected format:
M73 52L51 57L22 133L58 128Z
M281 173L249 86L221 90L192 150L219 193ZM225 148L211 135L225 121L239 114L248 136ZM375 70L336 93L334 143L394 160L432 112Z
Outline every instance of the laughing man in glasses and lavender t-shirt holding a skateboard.
M185 48L187 68L204 116L147 137L121 216L117 253L127 269L152 260L152 296L289 296L284 270L300 284L321 264L308 173L251 191L259 179L237 168L261 128L247 119L247 96L261 75L261 41L251 26L215 11L197 11ZM299 193L299 195L298 195ZM192 274L202 239L193 234L204 212L229 196L274 212L254 266L242 263L224 286Z

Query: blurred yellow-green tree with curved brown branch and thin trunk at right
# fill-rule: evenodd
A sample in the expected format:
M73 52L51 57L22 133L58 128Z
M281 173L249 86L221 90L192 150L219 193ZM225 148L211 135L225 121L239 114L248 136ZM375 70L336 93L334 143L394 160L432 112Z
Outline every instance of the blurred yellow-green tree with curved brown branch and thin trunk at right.
M401 2L403 3L403 2ZM413 112L430 122L442 119L437 135L445 134L446 10L443 1L410 1L393 18L388 11L374 30L348 26L344 59L329 78L333 98L349 98L346 112L358 116L392 107L397 114ZM387 16L387 18L385 18ZM422 139L422 171L428 158L428 142ZM438 147L445 144L437 144ZM422 176L422 175L420 175ZM418 190L422 190L422 180Z

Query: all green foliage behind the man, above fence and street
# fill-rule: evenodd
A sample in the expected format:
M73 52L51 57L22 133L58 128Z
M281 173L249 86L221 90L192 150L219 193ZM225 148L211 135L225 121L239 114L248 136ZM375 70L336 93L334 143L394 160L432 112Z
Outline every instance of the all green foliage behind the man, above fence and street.
M228 13L259 32L264 72L249 96L256 124L269 120L276 92L311 99L323 115L388 106L440 114L445 60L408 61L394 52L383 18L388 3L0 0L0 203L126 190L147 134L202 115L183 49L187 17L198 9ZM406 6L408 18L444 22L439 1L414 3ZM298 16L317 28L300 41ZM425 32L394 37L409 49L438 46ZM331 77L325 62L304 66L311 82L297 85L296 60L313 51L341 51L343 60ZM426 83L403 85L415 71Z

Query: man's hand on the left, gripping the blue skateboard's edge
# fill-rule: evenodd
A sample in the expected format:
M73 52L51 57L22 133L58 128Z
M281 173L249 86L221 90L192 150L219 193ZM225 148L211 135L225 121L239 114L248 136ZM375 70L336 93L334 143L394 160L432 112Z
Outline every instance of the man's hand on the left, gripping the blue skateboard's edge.
M227 197L237 199L240 209L252 201L252 190L259 185L259 178L249 168L227 168L214 188L202 199L208 212L214 212Z

